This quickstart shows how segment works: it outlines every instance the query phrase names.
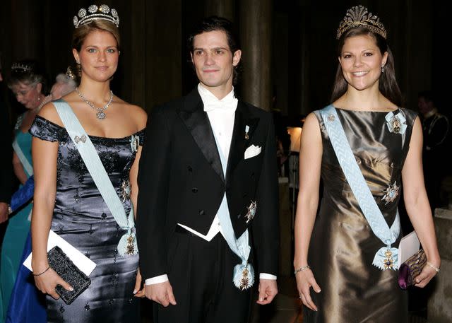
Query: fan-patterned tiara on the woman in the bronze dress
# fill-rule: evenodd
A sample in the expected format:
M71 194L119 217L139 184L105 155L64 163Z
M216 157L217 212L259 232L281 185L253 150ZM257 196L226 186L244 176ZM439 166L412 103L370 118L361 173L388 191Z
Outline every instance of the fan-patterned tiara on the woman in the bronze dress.
M383 23L380 23L380 18L367 11L364 6L354 6L347 10L345 17L340 21L336 39L339 39L347 30L359 27L367 28L386 39L386 29Z

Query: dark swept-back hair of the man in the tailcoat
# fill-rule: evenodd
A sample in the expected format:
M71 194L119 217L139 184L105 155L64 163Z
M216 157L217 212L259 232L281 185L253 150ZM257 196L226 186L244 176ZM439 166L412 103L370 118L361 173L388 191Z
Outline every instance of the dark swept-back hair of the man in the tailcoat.
M230 20L218 16L210 16L201 20L198 25L195 26L193 32L189 35L187 39L187 49L193 54L194 50L194 39L196 35L201 35L202 33L208 33L210 31L220 30L226 33L227 45L231 50L232 54L240 49L239 37L237 37L237 30ZM237 66L234 66L234 84L237 82L239 66L241 66L241 61Z

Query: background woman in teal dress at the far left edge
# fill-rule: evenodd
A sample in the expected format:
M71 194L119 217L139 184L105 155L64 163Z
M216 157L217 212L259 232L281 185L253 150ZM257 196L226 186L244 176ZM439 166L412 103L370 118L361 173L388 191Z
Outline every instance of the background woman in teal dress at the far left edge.
M25 112L20 114L14 128L12 160L14 174L20 181L20 185L23 185L28 177L33 174L31 136L28 130L45 102L44 74L40 71L37 62L32 60L16 61L11 66L8 88L16 95L18 102L25 107ZM13 290L16 281L25 240L30 230L31 209L32 203L30 202L11 216L1 246L0 292L3 302L0 304L0 312L3 320L8 309L11 290Z

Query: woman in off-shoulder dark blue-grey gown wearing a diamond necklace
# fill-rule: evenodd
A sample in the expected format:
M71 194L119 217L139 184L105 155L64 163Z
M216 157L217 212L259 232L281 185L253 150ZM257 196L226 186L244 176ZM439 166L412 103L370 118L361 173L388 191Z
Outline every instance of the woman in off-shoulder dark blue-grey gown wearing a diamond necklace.
M136 206L138 159L147 117L141 107L124 102L110 90L119 60L117 11L106 5L89 6L78 11L73 23L73 57L80 64L80 85L62 100L44 105L30 129L35 167L33 274L37 288L48 294L49 322L139 322L136 296L143 296L143 291L131 210ZM90 141L85 134L69 136L57 106L73 111ZM93 143L119 197L119 208L124 207L120 213L125 211L125 227L117 222L118 210L110 209L100 194L78 151L79 142ZM66 290L71 286L49 269L49 230L96 264L90 286L70 305L55 292L57 284ZM122 237L125 246L120 243ZM124 247L130 248L123 252Z

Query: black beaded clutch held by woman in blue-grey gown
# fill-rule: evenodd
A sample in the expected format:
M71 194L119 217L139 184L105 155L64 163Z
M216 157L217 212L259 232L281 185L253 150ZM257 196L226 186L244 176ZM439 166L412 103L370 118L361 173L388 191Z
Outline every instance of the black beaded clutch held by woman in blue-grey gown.
M90 286L91 280L83 273L78 267L73 264L71 259L61 250L60 247L55 246L47 252L47 259L49 260L49 266L61 276L73 290L66 290L61 285L57 285L55 290L64 300L67 305L71 304L78 295Z

